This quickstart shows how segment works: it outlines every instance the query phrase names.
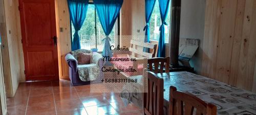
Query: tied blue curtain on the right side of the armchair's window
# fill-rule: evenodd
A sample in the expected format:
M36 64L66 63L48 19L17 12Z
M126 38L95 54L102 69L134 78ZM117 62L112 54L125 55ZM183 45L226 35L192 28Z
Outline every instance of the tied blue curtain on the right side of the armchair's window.
M101 27L106 35L103 39L104 48L102 56L113 56L110 50L110 33L115 25L116 19L119 15L123 0L94 0L94 5L98 13Z

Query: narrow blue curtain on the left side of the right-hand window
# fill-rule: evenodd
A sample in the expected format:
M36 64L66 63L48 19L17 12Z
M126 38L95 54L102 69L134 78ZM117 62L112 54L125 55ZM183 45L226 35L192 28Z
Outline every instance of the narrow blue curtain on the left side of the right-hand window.
M156 0L145 0L146 26L143 29L145 31L144 42L150 42L150 18L151 18L155 3L156 3ZM144 48L144 52L149 52L149 49Z

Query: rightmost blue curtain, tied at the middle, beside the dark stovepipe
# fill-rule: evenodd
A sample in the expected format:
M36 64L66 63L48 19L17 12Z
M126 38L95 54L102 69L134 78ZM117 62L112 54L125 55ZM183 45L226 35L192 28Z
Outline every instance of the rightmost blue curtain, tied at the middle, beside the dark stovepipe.
M160 26L160 29L159 29L160 30L160 38L158 41L157 57L165 57L164 25L167 25L165 22L165 18L167 17L167 14L168 14L170 0L159 0L158 2L159 2L162 25Z

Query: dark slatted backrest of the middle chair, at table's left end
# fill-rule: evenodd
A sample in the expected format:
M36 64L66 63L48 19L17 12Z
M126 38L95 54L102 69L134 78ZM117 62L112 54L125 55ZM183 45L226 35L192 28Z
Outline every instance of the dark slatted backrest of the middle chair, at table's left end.
M153 72L147 73L147 93L144 93L144 114L163 114L163 79Z

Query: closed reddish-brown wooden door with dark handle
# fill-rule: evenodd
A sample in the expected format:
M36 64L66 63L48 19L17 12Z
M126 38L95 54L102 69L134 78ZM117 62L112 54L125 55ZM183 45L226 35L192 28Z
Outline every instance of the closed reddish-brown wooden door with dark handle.
M58 79L55 1L19 0L19 13L26 81Z

